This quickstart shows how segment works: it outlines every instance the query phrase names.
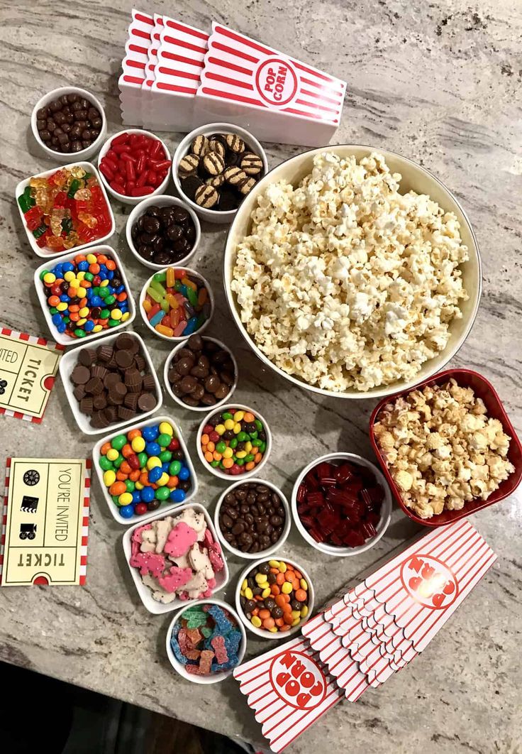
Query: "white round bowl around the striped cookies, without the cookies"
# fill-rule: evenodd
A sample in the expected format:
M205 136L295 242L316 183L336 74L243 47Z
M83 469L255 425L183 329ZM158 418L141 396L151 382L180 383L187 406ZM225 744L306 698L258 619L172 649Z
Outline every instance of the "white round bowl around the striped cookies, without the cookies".
M208 222L232 222L237 210L219 212L218 210L206 210L204 207L200 207L199 204L196 204L195 201L192 201L192 199L188 198L183 192L182 182L178 176L179 163L182 161L182 158L184 158L185 155L188 155L191 151L191 143L193 139L195 139L196 136L210 136L212 133L237 133L238 136L241 136L246 145L250 147L252 152L255 152L256 155L261 157L261 160L263 161L263 174L268 172L267 155L261 144L258 142L258 139L256 139L252 133L244 128L240 128L240 126L234 126L233 123L209 123L206 124L206 126L195 128L179 143L176 152L174 152L174 159L172 160L172 178L174 179L174 185L176 186L176 192L179 197L181 197L183 201L186 201L189 207L192 207L201 219L208 220ZM245 201L241 204L242 207L243 204L245 204Z

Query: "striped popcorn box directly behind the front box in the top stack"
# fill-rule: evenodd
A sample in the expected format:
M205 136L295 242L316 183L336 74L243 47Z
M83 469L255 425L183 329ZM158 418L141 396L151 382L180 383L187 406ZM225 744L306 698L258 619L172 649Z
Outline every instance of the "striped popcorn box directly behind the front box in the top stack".
M157 95L155 115L163 126L187 130L198 125L194 118L194 99L209 35L182 21L163 16L160 46L157 51L154 82Z

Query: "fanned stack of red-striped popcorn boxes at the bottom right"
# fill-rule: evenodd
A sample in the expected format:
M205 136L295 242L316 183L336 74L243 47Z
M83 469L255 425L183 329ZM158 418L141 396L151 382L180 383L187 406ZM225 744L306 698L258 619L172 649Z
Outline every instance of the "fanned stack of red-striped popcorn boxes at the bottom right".
M434 529L234 670L273 752L342 697L356 701L420 654L496 559L468 520Z

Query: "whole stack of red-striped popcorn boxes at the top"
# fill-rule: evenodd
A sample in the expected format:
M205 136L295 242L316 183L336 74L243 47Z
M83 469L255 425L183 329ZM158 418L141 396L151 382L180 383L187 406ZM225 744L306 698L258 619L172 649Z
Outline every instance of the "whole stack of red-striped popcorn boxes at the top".
M120 100L124 125L191 130L229 121L267 141L320 146L337 129L346 83L212 23L212 35L133 11Z

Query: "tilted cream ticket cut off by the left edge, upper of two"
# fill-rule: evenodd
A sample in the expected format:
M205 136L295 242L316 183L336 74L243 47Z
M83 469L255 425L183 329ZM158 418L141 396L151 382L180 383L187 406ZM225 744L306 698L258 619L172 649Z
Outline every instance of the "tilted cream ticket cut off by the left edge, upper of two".
M40 424L63 345L0 328L0 414Z

